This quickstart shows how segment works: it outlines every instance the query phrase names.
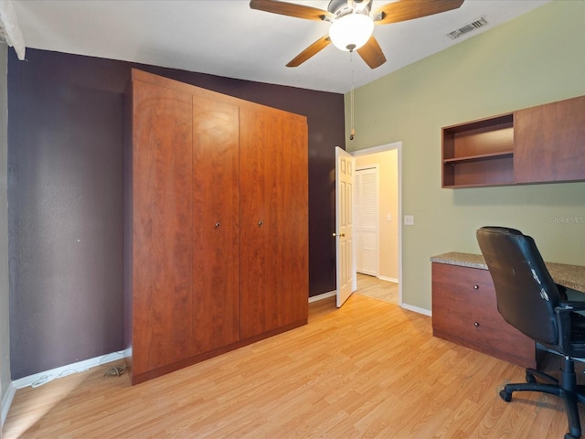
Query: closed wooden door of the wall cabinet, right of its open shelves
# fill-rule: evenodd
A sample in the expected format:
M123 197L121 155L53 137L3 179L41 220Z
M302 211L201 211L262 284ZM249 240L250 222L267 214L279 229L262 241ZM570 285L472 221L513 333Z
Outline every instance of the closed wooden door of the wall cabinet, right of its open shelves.
M516 183L585 179L585 96L516 112Z

